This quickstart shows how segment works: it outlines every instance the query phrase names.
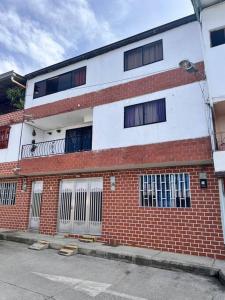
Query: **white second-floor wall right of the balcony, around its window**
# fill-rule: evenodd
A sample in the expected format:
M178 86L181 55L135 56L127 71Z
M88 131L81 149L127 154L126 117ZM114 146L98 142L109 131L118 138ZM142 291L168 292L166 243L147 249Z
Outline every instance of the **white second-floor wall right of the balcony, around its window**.
M166 98L166 122L124 128L124 107ZM198 83L97 106L93 110L93 150L208 136Z

